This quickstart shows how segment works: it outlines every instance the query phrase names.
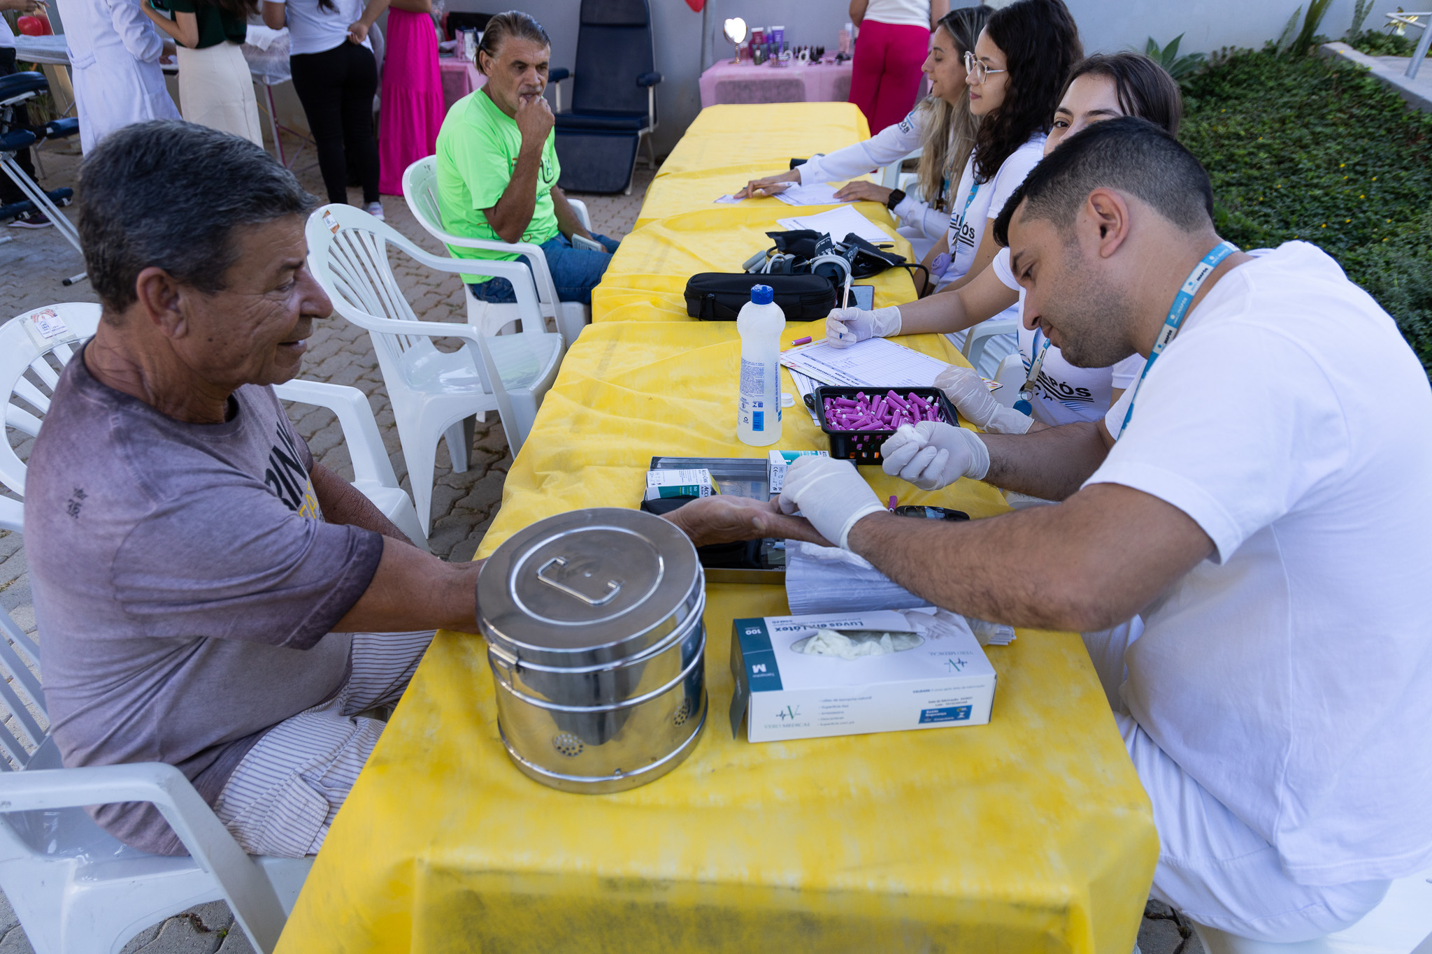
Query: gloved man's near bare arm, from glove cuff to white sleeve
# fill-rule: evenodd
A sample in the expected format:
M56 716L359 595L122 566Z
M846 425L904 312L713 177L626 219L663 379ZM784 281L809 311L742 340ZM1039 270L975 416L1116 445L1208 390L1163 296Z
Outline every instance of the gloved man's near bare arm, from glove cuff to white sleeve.
M871 513L849 545L937 606L1077 631L1128 619L1213 552L1183 511L1117 483L968 523Z

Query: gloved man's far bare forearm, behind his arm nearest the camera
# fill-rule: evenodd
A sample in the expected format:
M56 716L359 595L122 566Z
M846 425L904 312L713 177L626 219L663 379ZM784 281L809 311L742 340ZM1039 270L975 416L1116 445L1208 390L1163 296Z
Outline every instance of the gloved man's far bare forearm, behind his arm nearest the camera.
M1063 501L1098 469L1108 449L1095 423L1067 423L1030 433L982 433L990 449L987 483L1045 501Z

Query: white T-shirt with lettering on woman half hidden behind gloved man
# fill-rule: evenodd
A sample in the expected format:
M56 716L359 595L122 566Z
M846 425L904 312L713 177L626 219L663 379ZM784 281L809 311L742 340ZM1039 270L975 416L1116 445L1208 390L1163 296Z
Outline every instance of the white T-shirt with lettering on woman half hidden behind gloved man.
M1042 348L1045 338L1024 326L1024 287L1014 280L1014 272L1010 269L1010 249L1000 249L991 267L1005 287L1020 293L1020 303L1015 306L1020 316L1020 358L1028 373L1034 366L1035 346ZM1141 355L1130 355L1113 368L1075 368L1064 360L1055 345L1050 345L1035 390L1040 399L1034 402L1031 416L1051 428L1077 421L1103 421L1114 396L1113 389L1130 388L1138 380L1138 372L1143 369Z

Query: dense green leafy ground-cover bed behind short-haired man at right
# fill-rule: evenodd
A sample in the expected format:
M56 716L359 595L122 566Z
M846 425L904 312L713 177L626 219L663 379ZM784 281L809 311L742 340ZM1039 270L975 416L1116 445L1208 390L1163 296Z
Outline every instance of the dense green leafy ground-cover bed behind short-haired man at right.
M1432 116L1359 67L1233 51L1193 76L1180 139L1213 179L1219 235L1319 245L1432 372Z

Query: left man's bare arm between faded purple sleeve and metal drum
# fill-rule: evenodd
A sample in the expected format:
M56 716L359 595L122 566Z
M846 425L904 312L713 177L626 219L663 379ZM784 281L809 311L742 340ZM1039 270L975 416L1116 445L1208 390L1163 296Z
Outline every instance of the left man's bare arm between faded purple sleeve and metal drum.
M447 564L407 541L385 536L372 582L334 631L477 632L477 574L481 568L481 562Z

